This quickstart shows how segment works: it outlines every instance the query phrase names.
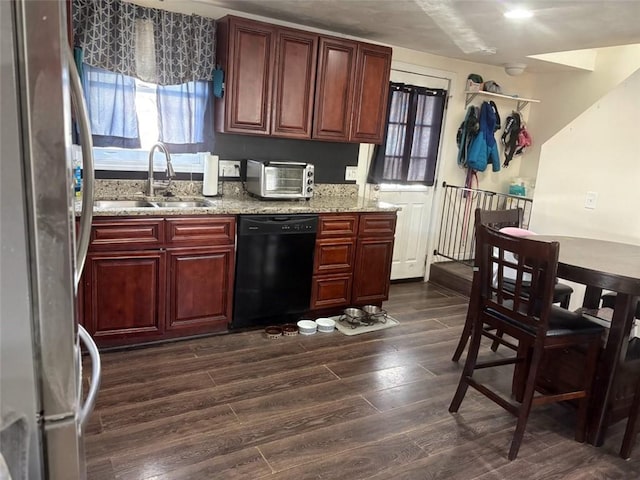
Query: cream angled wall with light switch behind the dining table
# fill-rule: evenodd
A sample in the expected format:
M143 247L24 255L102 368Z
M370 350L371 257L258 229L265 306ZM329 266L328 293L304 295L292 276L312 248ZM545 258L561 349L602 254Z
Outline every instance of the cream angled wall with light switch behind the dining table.
M531 229L640 245L640 70L542 147ZM584 207L597 192L594 210ZM584 287L572 285L571 307Z

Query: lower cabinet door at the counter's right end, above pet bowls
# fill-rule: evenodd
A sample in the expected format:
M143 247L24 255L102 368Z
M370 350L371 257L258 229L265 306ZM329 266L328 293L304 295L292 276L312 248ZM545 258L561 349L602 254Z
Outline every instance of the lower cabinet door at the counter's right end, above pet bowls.
M358 239L352 303L382 302L389 297L393 238Z

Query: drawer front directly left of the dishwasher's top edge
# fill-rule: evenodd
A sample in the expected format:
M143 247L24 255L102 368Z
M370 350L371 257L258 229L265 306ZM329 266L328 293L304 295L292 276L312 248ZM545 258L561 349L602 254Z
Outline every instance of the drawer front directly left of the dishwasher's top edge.
M167 246L233 245L235 217L167 218Z

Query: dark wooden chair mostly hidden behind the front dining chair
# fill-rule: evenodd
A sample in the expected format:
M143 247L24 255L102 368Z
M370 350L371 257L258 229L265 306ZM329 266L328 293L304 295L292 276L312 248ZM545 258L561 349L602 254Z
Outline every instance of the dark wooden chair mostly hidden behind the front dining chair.
M482 224L492 227L496 230L500 230L508 227L521 228L522 227L522 219L523 219L523 210L522 208L514 208L510 210L476 210L476 225ZM479 212L479 213L478 213ZM477 223L477 222L480 223ZM476 285L476 273L473 274L473 279L471 281L471 294L469 301L469 308L467 310L467 318L464 322L464 327L462 329L462 334L460 335L460 340L458 340L458 345L453 353L452 361L457 362L460 360L462 356L462 352L464 352L465 347L467 346L467 341L471 336L471 326L473 325L473 318L476 315L476 309L474 308L473 298L477 295L477 287ZM509 279L507 279L507 287L510 286ZM566 284L556 283L553 287L553 303L559 303L562 308L569 308L569 302L571 300L571 294L573 293L573 289ZM517 347L506 340L503 339L502 332L498 331L496 333L496 339L493 341L491 345L491 350L494 352L497 351L499 345L504 345L508 348L515 350Z

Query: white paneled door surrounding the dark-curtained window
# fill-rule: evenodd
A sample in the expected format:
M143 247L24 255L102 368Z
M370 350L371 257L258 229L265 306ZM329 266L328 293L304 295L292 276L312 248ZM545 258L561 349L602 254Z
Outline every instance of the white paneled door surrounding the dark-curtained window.
M449 89L449 80L391 70L392 82ZM391 279L424 277L434 187L381 185L379 198L402 207L398 212Z

